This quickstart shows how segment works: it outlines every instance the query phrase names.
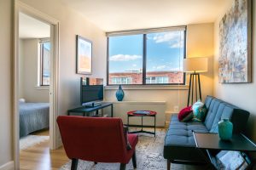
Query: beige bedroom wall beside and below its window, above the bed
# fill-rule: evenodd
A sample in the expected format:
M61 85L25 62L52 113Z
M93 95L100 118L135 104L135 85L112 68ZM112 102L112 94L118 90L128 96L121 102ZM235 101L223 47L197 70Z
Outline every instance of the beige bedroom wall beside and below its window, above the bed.
M49 102L49 88L38 88L38 39L20 40L20 98ZM47 88L47 87L46 87Z

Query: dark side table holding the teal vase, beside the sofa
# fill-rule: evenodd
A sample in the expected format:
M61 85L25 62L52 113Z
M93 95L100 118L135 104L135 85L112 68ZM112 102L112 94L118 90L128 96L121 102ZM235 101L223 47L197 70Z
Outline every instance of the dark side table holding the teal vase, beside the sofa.
M236 150L244 153L256 152L256 145L244 134L233 134L229 141L221 140L218 133L195 133L193 132L196 148L201 151L207 163L212 169L218 169L212 152L218 153L220 150ZM248 163L247 169L253 169L255 161L252 159Z

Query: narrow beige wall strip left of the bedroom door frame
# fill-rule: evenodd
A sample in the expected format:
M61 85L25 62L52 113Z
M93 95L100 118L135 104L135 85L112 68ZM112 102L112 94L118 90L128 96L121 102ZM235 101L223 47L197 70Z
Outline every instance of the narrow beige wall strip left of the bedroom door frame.
M13 160L11 111L11 10L12 1L0 1L0 169Z

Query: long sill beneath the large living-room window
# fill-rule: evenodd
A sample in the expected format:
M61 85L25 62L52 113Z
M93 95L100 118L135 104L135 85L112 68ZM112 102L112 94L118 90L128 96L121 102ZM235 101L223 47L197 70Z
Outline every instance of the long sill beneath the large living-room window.
M119 85L105 86L105 90L117 90ZM188 85L122 85L124 90L188 90Z

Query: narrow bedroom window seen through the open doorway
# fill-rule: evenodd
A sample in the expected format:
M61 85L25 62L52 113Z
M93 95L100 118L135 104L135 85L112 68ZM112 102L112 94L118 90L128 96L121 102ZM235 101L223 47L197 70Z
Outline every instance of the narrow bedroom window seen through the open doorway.
M40 86L49 86L50 42L40 42Z

